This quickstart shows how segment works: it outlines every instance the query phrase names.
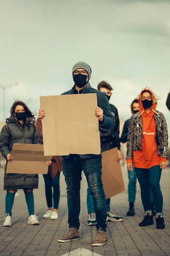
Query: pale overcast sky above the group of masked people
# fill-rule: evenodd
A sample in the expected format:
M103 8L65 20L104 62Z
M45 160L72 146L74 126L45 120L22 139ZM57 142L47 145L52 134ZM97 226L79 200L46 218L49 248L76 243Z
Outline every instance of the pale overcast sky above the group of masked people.
M6 90L6 117L15 99L38 111L39 96L69 90L77 61L91 66L94 88L111 84L121 118L150 86L170 127L169 0L0 0L0 83L20 82Z

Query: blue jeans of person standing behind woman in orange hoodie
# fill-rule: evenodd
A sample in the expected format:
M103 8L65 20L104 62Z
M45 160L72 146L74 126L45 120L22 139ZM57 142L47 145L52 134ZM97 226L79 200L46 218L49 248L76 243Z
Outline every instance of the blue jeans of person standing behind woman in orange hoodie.
M132 171L128 171L128 178L129 178L129 183L128 183L128 201L131 203L135 202L136 199L136 172L135 168L133 167ZM149 194L150 194L150 199L151 202L153 202L153 195L151 189L149 189Z

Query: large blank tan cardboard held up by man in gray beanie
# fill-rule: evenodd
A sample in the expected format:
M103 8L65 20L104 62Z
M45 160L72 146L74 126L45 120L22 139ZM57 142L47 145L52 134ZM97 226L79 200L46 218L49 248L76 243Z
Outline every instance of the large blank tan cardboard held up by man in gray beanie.
M100 154L96 93L40 97L44 155Z

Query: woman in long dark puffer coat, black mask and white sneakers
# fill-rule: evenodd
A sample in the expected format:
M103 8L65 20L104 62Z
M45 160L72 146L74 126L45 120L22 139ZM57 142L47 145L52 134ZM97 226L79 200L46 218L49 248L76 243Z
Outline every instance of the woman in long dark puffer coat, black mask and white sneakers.
M11 227L12 206L17 189L23 189L28 207L28 224L38 225L39 221L34 215L33 189L38 188L37 174L6 173L8 161L13 160L11 150L14 143L40 144L40 137L34 125L35 118L25 103L16 101L11 107L11 116L6 119L0 133L0 152L6 158L4 190L6 190L6 218L4 227ZM18 166L20 168L20 166Z

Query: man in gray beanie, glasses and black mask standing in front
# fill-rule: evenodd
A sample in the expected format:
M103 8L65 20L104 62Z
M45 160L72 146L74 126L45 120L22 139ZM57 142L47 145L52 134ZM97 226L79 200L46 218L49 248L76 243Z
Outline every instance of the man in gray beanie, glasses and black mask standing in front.
M99 119L99 127L111 129L115 125L115 118L111 112L108 98L105 93L91 87L89 80L91 78L91 67L80 61L73 66L74 87L71 90L62 93L65 94L84 94L96 93L97 105L95 115ZM45 116L42 109L39 110L39 117ZM69 242L79 239L79 213L80 213L80 182L82 171L84 171L91 195L94 199L96 212L96 238L92 246L102 246L107 243L106 232L106 198L102 185L102 154L77 155L70 154L62 156L63 174L67 185L68 200L68 232L60 239L59 242Z

